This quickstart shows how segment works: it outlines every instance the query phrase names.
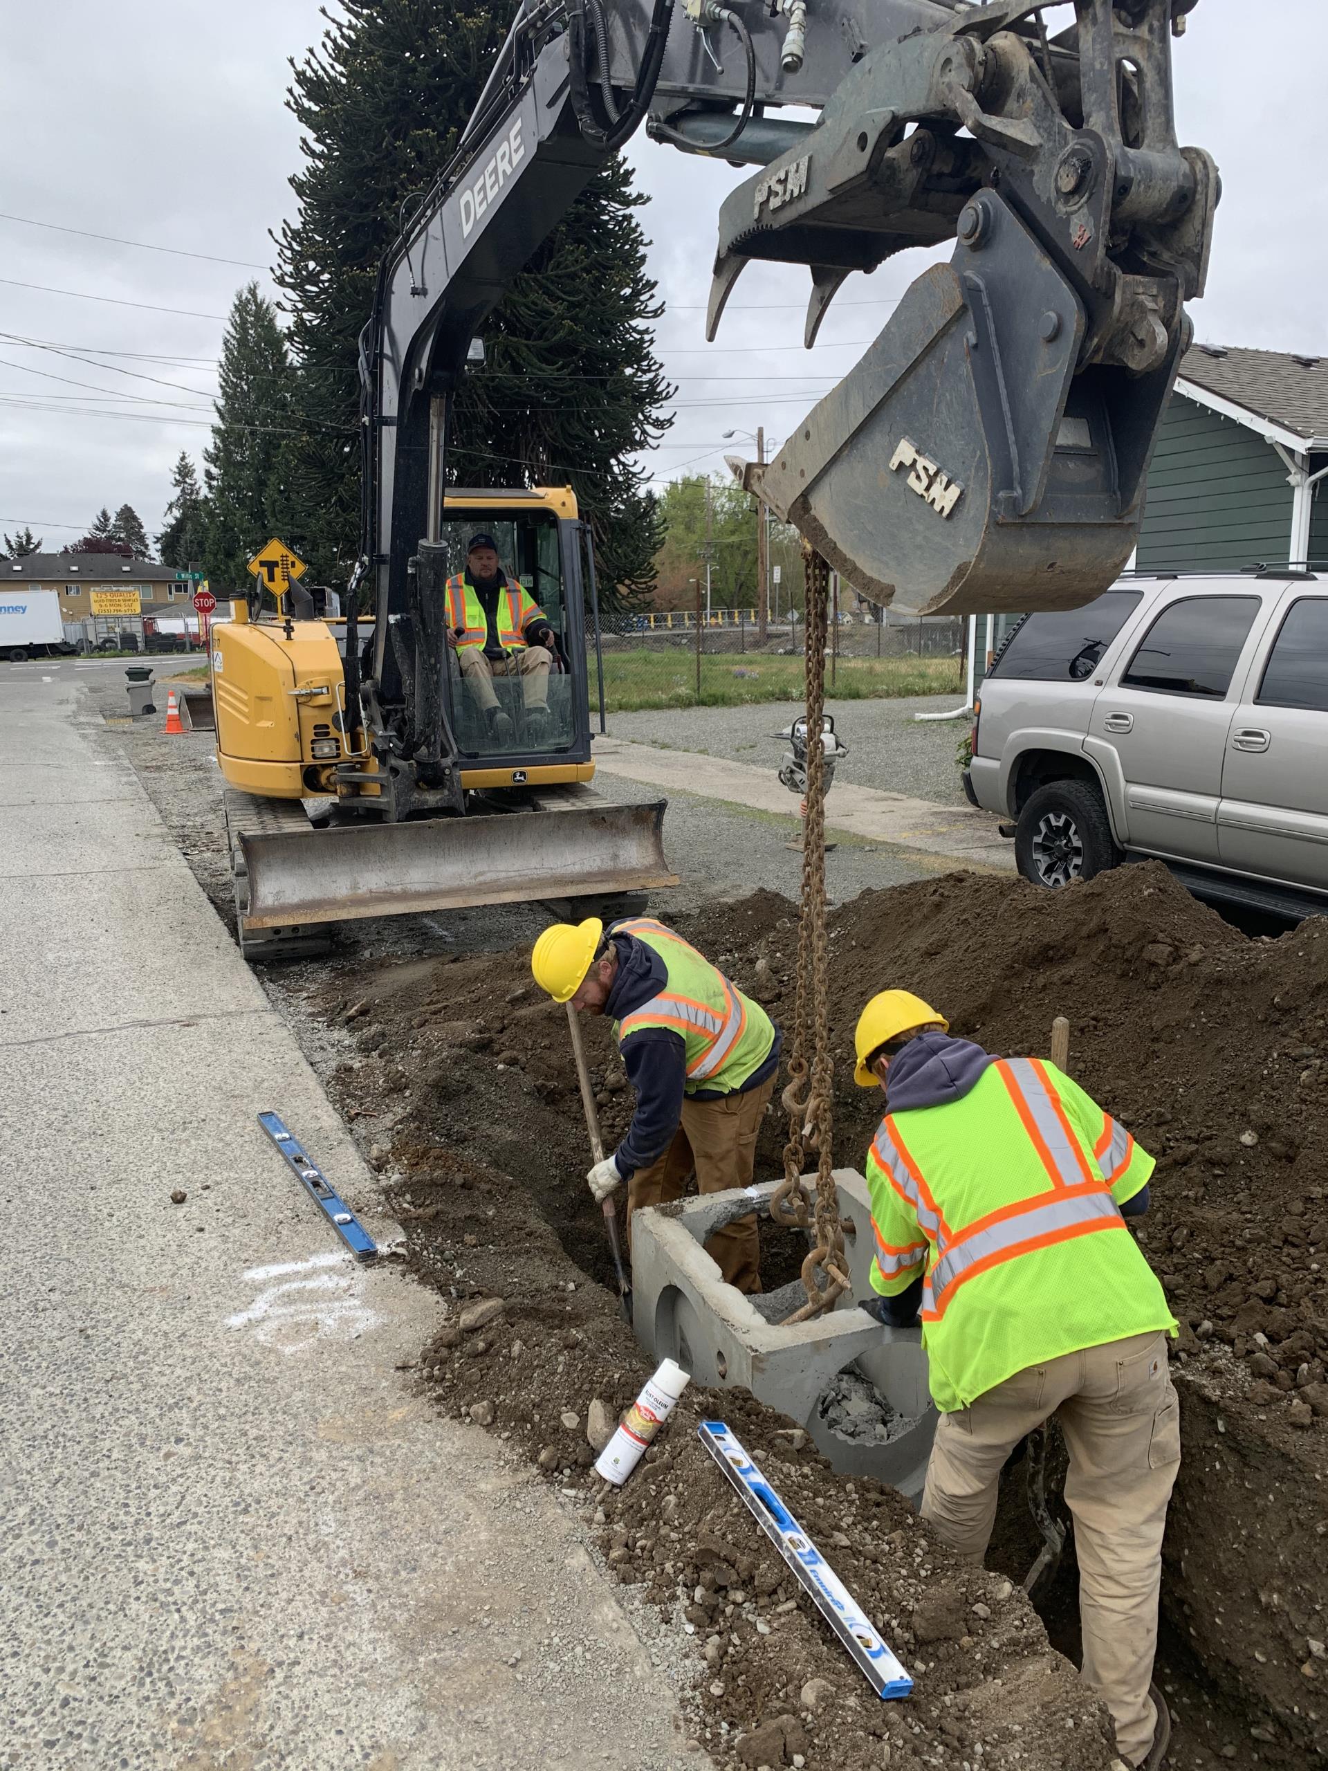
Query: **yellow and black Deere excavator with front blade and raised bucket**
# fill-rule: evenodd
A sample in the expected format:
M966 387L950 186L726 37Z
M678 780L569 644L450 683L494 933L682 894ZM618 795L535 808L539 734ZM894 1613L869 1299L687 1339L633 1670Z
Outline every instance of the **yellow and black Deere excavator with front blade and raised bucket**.
M290 609L237 606L216 629L246 951L297 951L349 917L673 882L664 808L591 786L593 556L570 491L469 492L446 471L485 315L641 124L753 166L719 213L710 338L753 260L807 266L811 345L853 271L954 241L776 459L745 469L749 491L855 590L910 613L1100 595L1135 545L1220 193L1211 158L1176 140L1170 44L1195 4L521 0L377 278L344 641ZM515 682L499 685L510 733L487 737L448 645L444 584L471 526L558 636L538 744Z

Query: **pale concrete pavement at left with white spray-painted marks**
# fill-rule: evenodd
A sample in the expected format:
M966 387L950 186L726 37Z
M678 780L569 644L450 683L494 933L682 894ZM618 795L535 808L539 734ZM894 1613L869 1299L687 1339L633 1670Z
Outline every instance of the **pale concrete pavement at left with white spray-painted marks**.
M391 1234L73 673L5 685L0 820L0 1766L696 1766L572 1516L398 1369L437 1298L259 1132Z

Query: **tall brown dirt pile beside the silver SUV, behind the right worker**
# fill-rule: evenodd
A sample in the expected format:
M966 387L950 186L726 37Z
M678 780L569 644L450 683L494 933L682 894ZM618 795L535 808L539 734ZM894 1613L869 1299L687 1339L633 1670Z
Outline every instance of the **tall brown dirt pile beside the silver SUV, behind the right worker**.
M705 933L776 1018L791 1015L783 900L731 905ZM917 990L1004 1054L1046 1052L1066 1015L1073 1075L1158 1156L1139 1240L1183 1348L1224 1339L1289 1426L1328 1415L1328 919L1250 940L1162 866L1059 896L946 875L836 910L830 955L841 1162L862 1165L882 1109L848 1063L873 990Z

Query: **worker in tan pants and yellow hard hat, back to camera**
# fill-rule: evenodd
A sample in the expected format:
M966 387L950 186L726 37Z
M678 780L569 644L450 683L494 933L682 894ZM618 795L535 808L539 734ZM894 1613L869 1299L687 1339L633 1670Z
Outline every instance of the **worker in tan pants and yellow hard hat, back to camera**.
M1181 1459L1167 1371L1176 1321L1126 1231L1153 1156L1069 1077L992 1057L907 990L857 1024L857 1082L885 1089L868 1156L873 1314L923 1311L940 1410L923 1518L981 1562L1000 1466L1057 1415L1084 1622L1082 1677L1131 1766L1170 1737L1151 1684L1162 1530Z

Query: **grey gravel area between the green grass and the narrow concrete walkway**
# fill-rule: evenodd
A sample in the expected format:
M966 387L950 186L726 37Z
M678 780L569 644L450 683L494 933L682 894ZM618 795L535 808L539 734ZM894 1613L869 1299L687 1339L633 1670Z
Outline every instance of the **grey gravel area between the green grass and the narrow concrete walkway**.
M963 692L924 694L901 701L827 701L836 731L850 754L839 763L838 781L876 786L891 793L914 793L942 806L963 806L963 783L954 751L969 731L963 719L917 724L914 714L940 714L960 707ZM701 751L730 762L777 769L784 746L774 733L802 712L797 701L765 701L758 707L660 708L650 714L611 714L609 735L636 744L659 744L671 751Z

